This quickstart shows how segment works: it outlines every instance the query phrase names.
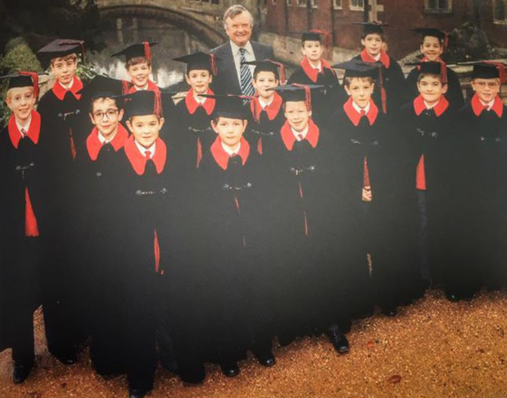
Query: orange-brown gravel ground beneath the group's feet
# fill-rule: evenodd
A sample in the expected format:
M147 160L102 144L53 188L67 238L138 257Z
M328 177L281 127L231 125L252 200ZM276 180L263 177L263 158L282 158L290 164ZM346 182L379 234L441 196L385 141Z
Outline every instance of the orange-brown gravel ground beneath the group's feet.
M209 366L199 387L184 387L158 369L151 398L507 397L507 293L482 293L451 303L439 291L401 309L354 324L351 352L339 356L326 338L305 338L275 349L277 364L249 357L237 378ZM11 353L0 354L0 398L127 397L125 378L103 380L87 352L63 366L46 352L37 324L37 366L21 385L11 383Z

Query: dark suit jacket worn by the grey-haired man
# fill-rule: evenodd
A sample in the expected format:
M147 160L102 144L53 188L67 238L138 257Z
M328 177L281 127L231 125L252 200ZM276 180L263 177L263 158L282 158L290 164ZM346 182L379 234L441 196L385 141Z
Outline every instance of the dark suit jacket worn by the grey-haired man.
M253 55L256 60L273 59L273 47L256 41L250 41ZM230 41L211 50L217 59L215 60L218 75L213 78L213 91L215 94L242 94L239 79L237 77L236 65L232 57Z

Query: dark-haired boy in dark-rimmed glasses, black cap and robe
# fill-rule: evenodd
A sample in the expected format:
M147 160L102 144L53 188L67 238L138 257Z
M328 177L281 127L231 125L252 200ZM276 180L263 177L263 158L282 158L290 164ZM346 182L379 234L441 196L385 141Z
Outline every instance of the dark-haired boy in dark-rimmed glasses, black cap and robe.
M75 202L80 206L80 249L78 269L84 302L82 312L87 313L91 328L90 354L100 375L116 375L123 371L120 316L118 316L118 276L121 273L114 245L116 225L111 219L111 206L115 203L110 188L110 177L128 132L120 123L123 103L116 98L123 93L120 80L96 76L82 91L83 112L92 122L84 145L77 156L77 175L80 186ZM121 291L121 290L120 290Z

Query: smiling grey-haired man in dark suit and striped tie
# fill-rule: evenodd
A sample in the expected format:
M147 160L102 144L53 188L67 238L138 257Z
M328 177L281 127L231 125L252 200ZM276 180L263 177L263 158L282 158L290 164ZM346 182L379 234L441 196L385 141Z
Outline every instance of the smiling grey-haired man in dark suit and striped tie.
M253 17L244 6L230 6L223 19L230 40L211 50L216 56L218 69L218 75L213 79L213 91L215 94L253 96L253 66L242 63L273 59L273 47L250 40Z

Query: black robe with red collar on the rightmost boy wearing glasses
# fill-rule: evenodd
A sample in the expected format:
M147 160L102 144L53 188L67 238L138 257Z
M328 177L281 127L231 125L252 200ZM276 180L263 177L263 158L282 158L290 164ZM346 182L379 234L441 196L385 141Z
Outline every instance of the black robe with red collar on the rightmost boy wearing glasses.
M467 151L462 168L466 178L463 194L465 205L468 205L464 214L469 221L467 231L475 232L475 236L468 236L470 242L465 247L474 248L477 254L475 264L468 263L468 274L461 272L463 289L468 288L469 293L477 288L474 282L479 278L490 288L507 283L506 245L503 243L507 226L507 190L503 184L507 176L507 108L499 97L492 110L481 111L481 108L475 95L458 114L463 148Z

